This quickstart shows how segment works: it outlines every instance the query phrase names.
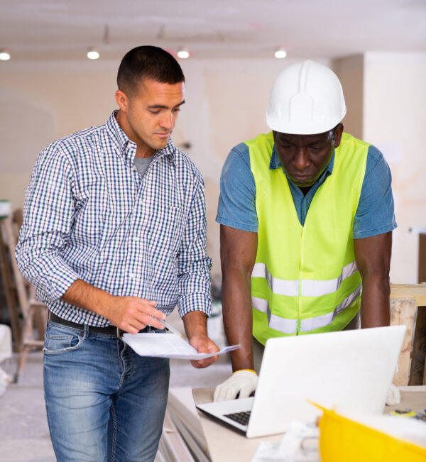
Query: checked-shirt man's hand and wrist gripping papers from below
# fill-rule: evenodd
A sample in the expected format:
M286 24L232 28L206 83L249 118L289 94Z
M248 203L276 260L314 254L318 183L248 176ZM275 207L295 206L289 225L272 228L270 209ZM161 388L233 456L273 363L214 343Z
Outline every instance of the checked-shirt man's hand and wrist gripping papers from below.
M198 353L214 353L219 351L219 347L214 341L207 336L207 315L200 311L189 312L183 317L183 324L190 345L193 346ZM208 365L215 363L219 356L211 356L210 358L192 360L191 364L195 368L207 368Z

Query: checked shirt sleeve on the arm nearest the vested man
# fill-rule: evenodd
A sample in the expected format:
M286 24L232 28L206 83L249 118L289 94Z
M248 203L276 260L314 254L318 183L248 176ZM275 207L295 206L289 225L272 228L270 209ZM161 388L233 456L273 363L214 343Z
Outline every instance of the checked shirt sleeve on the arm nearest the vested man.
M202 311L209 316L212 310L212 260L206 255L206 230L204 183L199 176L178 257L180 317L191 311Z

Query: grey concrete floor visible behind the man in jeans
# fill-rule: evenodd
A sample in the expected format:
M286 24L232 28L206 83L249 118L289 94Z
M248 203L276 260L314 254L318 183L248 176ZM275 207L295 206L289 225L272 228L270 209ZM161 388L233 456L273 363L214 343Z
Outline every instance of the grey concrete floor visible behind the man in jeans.
M175 312L170 324L182 331ZM222 319L209 319L209 335L219 346L224 346ZM7 373L16 370L17 356L1 363ZM231 374L227 356L206 369L192 368L189 361L170 361L170 387L214 387ZM0 461L53 462L55 461L48 431L43 398L43 353L28 355L23 380L10 384L0 396Z

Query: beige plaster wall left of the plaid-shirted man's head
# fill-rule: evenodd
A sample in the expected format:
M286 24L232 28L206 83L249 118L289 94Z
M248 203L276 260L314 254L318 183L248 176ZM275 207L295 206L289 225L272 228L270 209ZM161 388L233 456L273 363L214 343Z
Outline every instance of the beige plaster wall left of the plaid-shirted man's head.
M22 207L40 150L107 119L115 105L114 72L105 65L95 70L92 62L80 69L70 63L1 64L0 198Z

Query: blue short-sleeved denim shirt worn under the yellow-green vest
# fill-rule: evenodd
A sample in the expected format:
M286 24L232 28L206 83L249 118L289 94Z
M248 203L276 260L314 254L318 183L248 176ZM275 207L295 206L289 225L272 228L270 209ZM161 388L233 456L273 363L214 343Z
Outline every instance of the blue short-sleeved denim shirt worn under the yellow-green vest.
M371 145L368 148L358 209L354 216L355 239L376 236L396 228L391 181L391 170L383 154ZM302 197L297 196L296 189L290 188L295 204L300 205ZM305 214L310 202L305 208ZM299 216L299 219L303 222L305 216ZM242 231L258 231L256 185L250 169L249 148L244 143L231 150L222 169L216 221Z

